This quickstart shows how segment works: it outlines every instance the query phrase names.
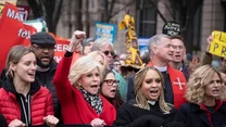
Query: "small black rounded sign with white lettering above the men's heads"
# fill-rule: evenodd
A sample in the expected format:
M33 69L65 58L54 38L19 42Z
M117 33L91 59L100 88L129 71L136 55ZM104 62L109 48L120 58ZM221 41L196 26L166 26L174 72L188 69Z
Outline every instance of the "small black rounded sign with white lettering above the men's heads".
M168 22L163 26L162 33L168 36L177 36L181 34L179 24L175 22Z

